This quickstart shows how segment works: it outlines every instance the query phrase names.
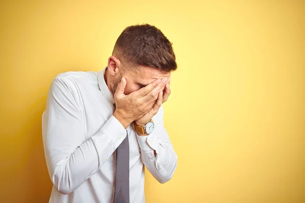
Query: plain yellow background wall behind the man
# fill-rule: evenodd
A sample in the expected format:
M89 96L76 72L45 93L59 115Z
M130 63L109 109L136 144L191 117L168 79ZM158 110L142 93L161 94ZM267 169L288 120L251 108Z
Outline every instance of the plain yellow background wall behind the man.
M46 3L48 2L48 3ZM160 28L178 69L164 104L178 154L151 202L305 202L304 1L1 1L2 202L47 202L51 80L100 71L123 29Z

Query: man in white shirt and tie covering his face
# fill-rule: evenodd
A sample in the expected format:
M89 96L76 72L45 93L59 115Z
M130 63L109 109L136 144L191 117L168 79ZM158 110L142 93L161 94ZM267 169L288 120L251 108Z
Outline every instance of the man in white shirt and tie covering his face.
M155 26L129 26L102 71L55 77L42 116L49 202L145 202L144 165L171 179L162 107L177 68L171 45Z

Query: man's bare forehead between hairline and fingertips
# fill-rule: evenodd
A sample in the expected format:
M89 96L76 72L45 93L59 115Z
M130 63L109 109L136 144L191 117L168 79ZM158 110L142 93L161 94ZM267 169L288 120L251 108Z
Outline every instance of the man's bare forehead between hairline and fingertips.
M134 79L137 82L142 82L144 84L149 84L157 79L167 78L170 76L171 72L161 72L155 67L140 66L135 69Z

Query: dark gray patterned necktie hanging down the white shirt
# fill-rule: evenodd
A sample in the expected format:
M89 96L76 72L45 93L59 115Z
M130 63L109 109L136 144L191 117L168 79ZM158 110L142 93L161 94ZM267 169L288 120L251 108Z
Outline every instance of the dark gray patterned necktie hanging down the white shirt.
M126 138L115 150L116 168L113 203L129 203L129 142L127 130L126 133Z

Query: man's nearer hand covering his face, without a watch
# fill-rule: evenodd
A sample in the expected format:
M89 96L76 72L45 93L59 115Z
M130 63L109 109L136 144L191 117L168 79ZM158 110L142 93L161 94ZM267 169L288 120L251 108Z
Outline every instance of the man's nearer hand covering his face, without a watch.
M158 94L163 91L167 78L155 80L147 86L128 95L124 94L126 79L118 84L114 99L116 109L113 116L125 127L145 115L156 103Z

